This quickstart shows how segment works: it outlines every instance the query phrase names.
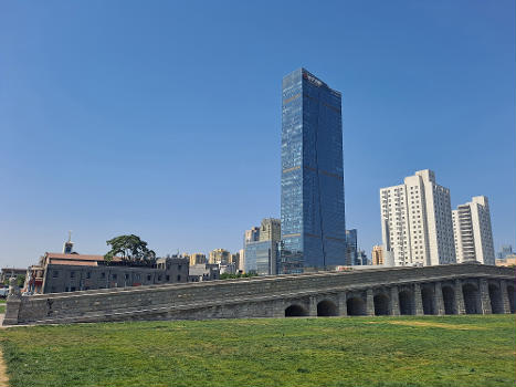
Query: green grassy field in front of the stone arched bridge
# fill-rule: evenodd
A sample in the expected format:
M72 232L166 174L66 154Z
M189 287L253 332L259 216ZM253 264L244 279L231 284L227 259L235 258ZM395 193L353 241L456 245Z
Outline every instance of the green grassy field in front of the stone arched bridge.
M141 322L0 330L11 386L514 386L516 317Z

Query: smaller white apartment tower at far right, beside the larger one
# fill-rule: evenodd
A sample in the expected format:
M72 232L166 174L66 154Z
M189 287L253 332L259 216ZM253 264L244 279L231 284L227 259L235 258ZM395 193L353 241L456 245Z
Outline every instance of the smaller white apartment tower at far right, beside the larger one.
M475 196L471 202L453 210L452 216L457 262L478 261L484 264L495 264L487 198Z

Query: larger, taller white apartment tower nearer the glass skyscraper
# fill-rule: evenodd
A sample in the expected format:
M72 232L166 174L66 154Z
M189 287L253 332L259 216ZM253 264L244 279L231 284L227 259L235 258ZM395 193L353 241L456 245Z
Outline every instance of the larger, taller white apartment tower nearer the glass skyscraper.
M380 189L381 237L397 266L455 263L450 189L430 169Z

